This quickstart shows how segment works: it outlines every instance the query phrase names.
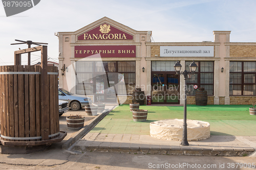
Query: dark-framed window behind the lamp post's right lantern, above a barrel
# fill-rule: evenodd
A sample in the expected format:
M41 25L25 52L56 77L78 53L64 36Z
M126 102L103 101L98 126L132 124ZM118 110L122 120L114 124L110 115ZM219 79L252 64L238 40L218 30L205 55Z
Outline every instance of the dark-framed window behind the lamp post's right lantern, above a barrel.
M192 61L185 62L185 69L190 70L189 65ZM195 95L194 85L204 87L208 95L214 95L214 61L195 61L198 68L194 75L189 75L187 79L187 94Z

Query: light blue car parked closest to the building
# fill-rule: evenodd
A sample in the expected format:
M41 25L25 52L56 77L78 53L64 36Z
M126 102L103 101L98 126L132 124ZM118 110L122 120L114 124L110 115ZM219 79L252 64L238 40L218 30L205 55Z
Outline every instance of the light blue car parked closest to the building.
M85 95L73 94L63 88L59 88L59 100L69 102L70 109L75 111L92 103L91 98Z

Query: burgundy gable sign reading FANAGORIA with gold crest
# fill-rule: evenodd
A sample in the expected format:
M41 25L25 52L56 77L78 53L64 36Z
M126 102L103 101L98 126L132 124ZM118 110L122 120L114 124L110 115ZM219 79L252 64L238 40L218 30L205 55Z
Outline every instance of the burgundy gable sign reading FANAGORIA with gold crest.
M77 40L132 40L133 36L127 34L107 23L104 23L88 32L82 33Z

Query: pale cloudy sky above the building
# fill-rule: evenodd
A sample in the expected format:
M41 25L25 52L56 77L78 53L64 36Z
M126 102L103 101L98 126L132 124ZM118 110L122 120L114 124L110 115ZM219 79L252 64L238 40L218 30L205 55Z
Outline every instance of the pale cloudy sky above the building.
M76 31L104 16L152 31L155 42L214 41L212 31L231 31L231 42L256 42L255 0L42 0L10 17L0 5L0 65L13 65L14 51L27 48L10 45L14 39L47 42L48 56L58 61L55 32ZM32 54L31 64L40 61L38 53ZM26 55L22 61L27 64Z

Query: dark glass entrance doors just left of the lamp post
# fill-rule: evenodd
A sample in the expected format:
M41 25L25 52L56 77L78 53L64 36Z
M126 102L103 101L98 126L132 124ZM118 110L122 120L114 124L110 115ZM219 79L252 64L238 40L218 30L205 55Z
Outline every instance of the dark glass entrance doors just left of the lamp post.
M175 72L152 72L152 103L179 104L179 75Z

